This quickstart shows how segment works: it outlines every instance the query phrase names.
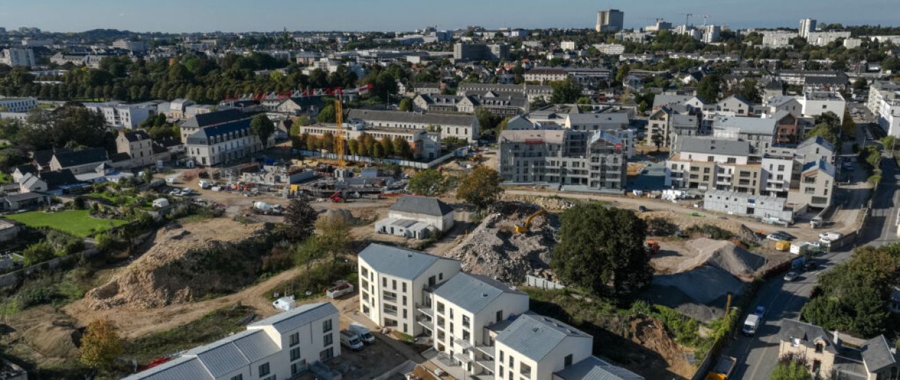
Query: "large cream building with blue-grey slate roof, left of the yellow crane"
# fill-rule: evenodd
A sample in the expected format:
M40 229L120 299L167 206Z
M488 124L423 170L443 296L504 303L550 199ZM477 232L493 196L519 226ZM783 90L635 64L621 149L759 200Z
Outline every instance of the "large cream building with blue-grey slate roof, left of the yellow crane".
M214 166L249 159L251 155L273 144L274 135L264 143L250 130L250 119L238 119L200 128L187 137L185 146L193 163Z

